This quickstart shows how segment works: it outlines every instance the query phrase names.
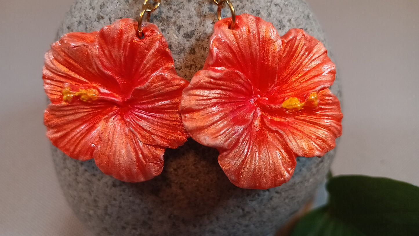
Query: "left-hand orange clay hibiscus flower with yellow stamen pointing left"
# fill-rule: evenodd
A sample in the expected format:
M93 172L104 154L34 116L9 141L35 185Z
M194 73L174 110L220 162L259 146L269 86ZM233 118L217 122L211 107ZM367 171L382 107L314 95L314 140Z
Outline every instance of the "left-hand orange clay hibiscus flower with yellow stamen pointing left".
M143 28L140 39L137 21L126 18L66 34L45 54L43 70L52 144L80 161L95 158L103 173L127 182L159 175L165 148L189 137L179 113L188 82L157 26Z

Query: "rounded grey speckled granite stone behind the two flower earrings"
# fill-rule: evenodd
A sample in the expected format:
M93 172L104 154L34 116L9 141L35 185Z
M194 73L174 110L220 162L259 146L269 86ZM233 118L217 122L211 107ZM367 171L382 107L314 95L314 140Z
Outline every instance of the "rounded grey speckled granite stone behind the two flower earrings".
M78 0L58 36L95 31L119 18L137 18L142 2ZM238 14L250 13L272 22L281 35L290 28L303 28L325 42L303 0L233 0L233 4ZM178 74L188 80L204 65L216 11L212 0L163 0L152 14L151 22L169 42ZM332 91L340 98L338 79ZM335 153L297 158L290 182L280 187L246 190L229 182L217 163L217 150L193 140L166 150L163 173L136 184L104 175L93 160L80 162L55 147L52 150L68 202L100 236L272 235L313 196Z

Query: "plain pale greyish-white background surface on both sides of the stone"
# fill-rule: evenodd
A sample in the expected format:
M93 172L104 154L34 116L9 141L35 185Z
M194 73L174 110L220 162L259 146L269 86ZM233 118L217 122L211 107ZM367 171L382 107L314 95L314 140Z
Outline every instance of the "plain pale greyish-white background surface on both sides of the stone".
M72 0L0 0L0 235L91 236L62 195L45 137L43 54ZM343 85L334 174L419 185L419 1L308 0Z

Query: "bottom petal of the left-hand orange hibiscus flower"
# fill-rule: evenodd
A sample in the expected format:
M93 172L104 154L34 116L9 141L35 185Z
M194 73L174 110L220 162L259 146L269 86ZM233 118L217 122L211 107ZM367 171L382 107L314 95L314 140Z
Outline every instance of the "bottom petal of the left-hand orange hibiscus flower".
M105 174L125 182L142 182L163 170L164 148L142 143L118 112L103 118L94 155Z

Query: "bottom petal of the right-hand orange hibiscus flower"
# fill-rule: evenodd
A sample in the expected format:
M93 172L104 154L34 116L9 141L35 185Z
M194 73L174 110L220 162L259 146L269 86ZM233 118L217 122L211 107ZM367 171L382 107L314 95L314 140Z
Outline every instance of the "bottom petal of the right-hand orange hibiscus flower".
M266 132L266 124L260 122L255 117L231 149L220 150L221 168L241 188L277 187L290 180L297 164L285 140L277 132Z

